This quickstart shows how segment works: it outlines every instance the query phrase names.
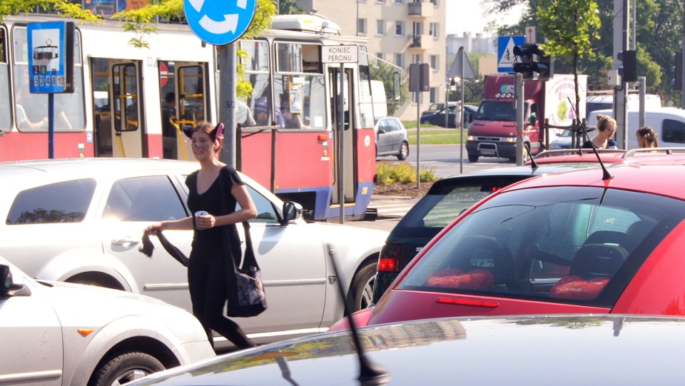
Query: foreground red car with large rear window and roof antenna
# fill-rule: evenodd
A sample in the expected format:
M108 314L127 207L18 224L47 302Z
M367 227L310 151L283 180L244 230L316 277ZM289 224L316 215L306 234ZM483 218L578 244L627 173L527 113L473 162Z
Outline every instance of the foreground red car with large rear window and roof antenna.
M355 321L685 315L685 167L608 171L612 178L600 168L547 174L489 195L435 236Z

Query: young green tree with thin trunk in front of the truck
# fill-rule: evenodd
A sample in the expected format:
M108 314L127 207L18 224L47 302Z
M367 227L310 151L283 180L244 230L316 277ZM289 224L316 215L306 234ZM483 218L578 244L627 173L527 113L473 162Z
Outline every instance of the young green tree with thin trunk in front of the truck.
M590 39L599 39L601 26L597 3L587 0L554 0L537 10L539 29L547 39L540 47L553 58L569 59L572 63L576 91L576 106L580 105L578 85L579 61L592 51ZM578 117L581 118L581 117Z

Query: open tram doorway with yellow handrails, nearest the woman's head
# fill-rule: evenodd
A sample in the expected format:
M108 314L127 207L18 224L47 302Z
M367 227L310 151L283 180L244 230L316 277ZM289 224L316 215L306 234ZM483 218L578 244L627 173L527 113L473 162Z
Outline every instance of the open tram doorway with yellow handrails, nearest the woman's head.
M212 119L206 92L209 66L203 62L159 63L164 158L194 160L191 141L183 129Z

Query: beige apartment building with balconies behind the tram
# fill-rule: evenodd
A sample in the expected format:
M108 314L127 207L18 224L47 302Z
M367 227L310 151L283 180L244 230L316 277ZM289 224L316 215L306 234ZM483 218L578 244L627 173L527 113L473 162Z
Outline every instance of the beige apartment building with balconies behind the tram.
M409 78L412 63L430 65L430 91L421 93L419 111L445 101L445 13L447 0L297 0L297 5L334 21L343 35L369 39L370 54L402 67ZM413 94L413 93L412 93ZM415 98L394 116L416 119Z

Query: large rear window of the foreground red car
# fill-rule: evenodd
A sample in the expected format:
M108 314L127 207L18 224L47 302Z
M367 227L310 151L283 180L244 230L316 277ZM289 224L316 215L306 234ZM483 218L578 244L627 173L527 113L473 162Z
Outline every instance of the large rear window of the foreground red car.
M684 218L681 201L646 193L509 191L443 235L397 289L612 307Z

